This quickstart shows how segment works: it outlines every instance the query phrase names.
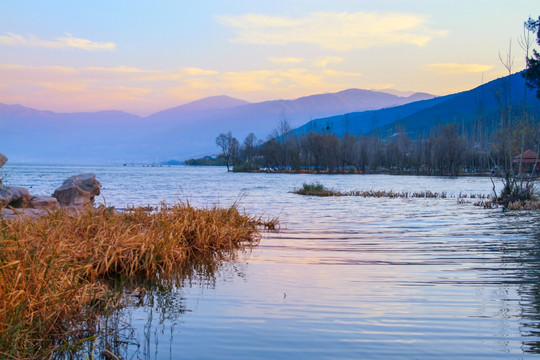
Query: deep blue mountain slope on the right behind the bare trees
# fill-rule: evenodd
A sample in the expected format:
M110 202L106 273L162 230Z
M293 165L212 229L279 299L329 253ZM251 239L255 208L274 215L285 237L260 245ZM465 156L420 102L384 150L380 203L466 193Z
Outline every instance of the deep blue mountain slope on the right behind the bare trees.
M481 132L482 136L489 136L499 127L501 111L509 107L514 116L521 116L525 110L528 116L540 119L540 100L536 98L536 91L525 85L522 73L456 94L315 119L294 129L292 134L317 132L358 136L377 133L384 138L399 129L415 138L429 134L440 125L457 123L468 134Z

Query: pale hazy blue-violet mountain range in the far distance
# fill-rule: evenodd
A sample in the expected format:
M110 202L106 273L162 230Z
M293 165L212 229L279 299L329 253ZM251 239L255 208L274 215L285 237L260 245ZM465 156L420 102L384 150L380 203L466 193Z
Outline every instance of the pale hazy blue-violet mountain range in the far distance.
M218 152L215 138L231 131L266 139L286 117L294 126L312 119L432 99L414 93L349 89L296 100L249 103L228 96L194 101L150 116L122 111L56 113L0 103L0 152L12 162L104 164L184 160Z

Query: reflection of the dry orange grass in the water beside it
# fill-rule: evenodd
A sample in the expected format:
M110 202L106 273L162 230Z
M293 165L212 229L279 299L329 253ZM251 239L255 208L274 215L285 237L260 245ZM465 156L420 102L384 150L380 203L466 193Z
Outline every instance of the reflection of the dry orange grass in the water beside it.
M186 308L184 288L215 288L216 273L235 265L215 256L193 258L178 269L172 277L157 276L107 280L109 296L116 305L102 308L97 318L72 334L68 348L58 351L55 359L155 359L158 349L168 347L168 357L173 356L175 328L182 322ZM160 358L163 354L160 354Z

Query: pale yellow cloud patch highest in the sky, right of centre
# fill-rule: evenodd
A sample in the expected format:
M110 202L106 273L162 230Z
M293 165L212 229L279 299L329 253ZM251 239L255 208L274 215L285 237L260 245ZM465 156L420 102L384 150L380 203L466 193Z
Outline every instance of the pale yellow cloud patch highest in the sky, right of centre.
M254 45L312 44L347 51L389 44L426 45L447 32L427 28L427 16L410 13L314 12L287 18L260 14L218 16L236 31L231 41Z

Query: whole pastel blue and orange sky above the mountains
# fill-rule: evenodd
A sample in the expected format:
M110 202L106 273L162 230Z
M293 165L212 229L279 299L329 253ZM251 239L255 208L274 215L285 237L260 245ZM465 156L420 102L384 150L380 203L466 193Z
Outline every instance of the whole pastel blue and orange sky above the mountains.
M216 95L445 95L508 74L509 49L522 70L539 15L538 0L2 1L0 103L149 115Z

